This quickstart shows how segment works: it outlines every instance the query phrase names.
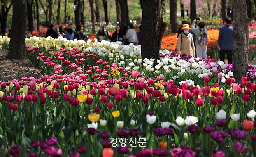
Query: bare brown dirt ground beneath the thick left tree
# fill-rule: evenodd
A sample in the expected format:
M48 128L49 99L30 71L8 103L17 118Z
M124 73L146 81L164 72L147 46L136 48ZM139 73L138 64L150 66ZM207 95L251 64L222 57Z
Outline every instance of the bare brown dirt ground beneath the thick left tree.
M21 79L23 76L39 78L41 71L34 67L28 59L6 59L7 52L0 50L0 81L12 81Z

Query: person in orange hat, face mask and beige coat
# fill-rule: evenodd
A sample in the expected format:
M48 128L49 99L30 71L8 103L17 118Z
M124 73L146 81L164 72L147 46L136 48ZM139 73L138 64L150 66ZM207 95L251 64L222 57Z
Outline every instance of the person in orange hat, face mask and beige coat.
M191 28L188 24L183 24L182 33L178 37L177 53L182 53L195 57L195 46L193 36L189 33Z

